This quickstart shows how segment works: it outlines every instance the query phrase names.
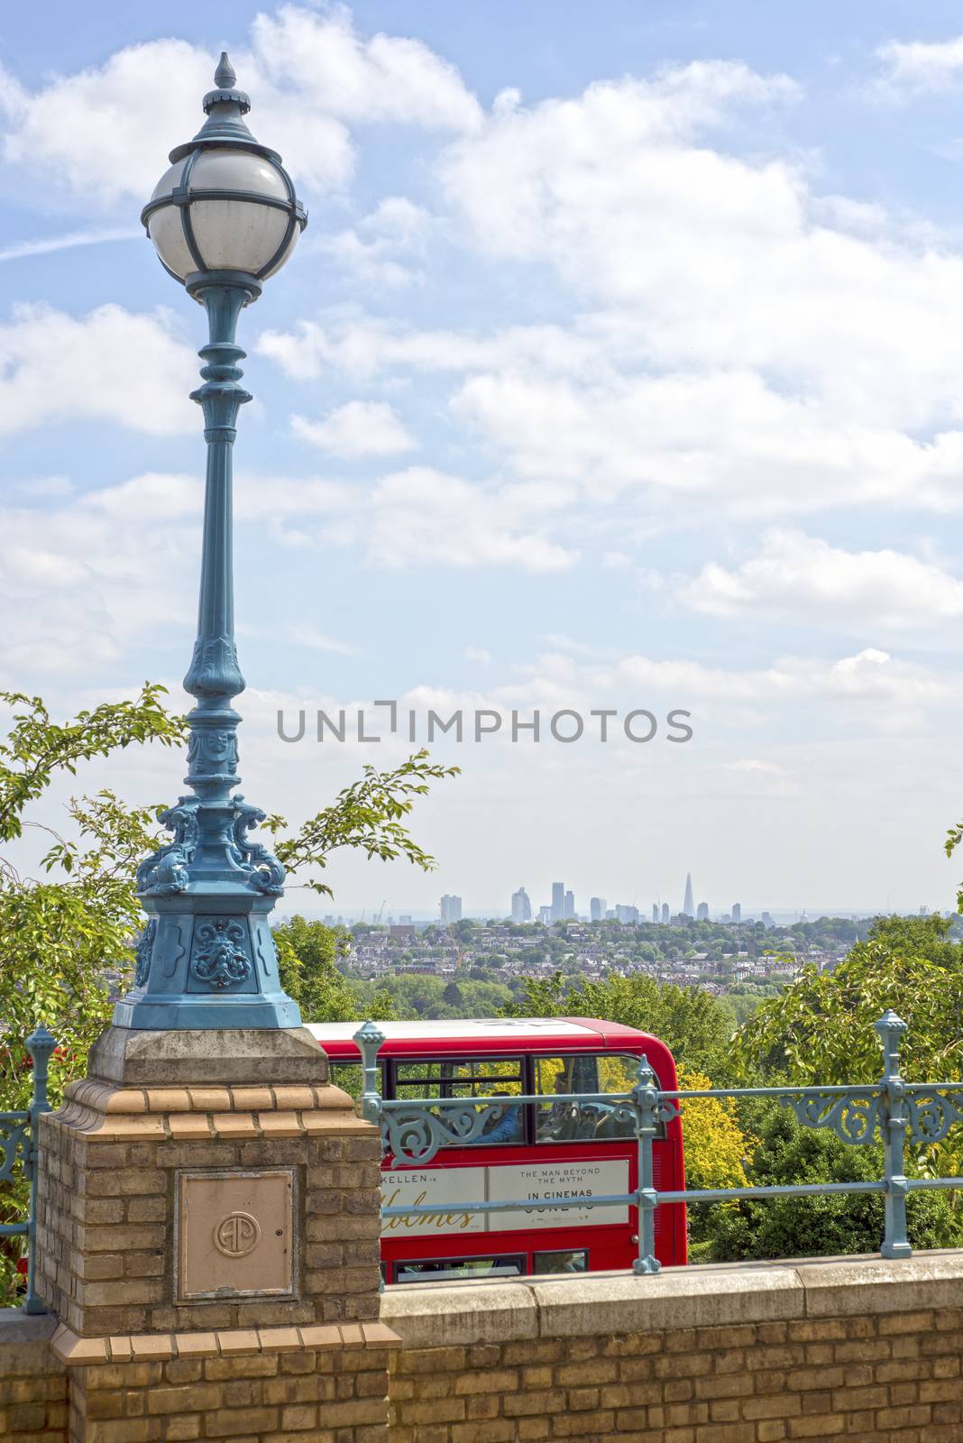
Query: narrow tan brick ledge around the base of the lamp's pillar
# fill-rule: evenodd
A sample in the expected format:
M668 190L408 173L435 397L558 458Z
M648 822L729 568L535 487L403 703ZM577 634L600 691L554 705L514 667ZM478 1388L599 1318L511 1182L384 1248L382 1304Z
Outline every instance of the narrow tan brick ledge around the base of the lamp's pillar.
M166 1362L172 1358L241 1358L245 1354L329 1352L355 1348L399 1348L401 1338L385 1323L340 1323L303 1328L231 1328L208 1333L123 1333L81 1338L61 1325L45 1335L50 1351L68 1368L107 1362ZM0 1343L3 1333L0 1333Z

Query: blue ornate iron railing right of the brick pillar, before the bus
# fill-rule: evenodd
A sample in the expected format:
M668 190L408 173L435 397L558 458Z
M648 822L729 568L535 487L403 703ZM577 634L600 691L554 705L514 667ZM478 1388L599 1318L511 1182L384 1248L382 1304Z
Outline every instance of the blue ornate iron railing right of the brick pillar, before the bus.
M900 1074L900 1042L907 1023L887 1012L875 1023L882 1045L882 1076L878 1082L833 1087L754 1087L708 1088L705 1091L662 1091L643 1056L636 1082L627 1092L565 1094L564 1104L578 1120L610 1118L623 1127L637 1149L637 1188L634 1192L597 1198L552 1198L555 1208L633 1206L639 1209L639 1255L636 1273L657 1273L654 1255L656 1208L669 1202L727 1202L738 1198L810 1198L848 1192L882 1193L885 1232L879 1248L884 1258L913 1255L907 1237L907 1196L928 1188L963 1188L963 1177L907 1177L907 1146L930 1146L947 1136L954 1123L963 1121L963 1082L905 1082ZM539 1097L437 1097L389 1100L381 1095L378 1052L383 1033L366 1022L355 1042L362 1055L363 1091L360 1113L381 1126L383 1156L399 1167L424 1166L443 1147L467 1147L486 1141L486 1128L506 1115L506 1110L532 1104L545 1107L558 1101ZM791 1107L803 1127L827 1127L843 1143L868 1146L882 1141L884 1176L866 1182L817 1182L771 1188L692 1188L657 1192L653 1179L653 1141L667 1121L680 1115L689 1100L696 1098L768 1098ZM458 1202L458 1211L471 1214L531 1209L532 1201ZM382 1219L431 1218L451 1212L451 1202L420 1206L382 1208Z

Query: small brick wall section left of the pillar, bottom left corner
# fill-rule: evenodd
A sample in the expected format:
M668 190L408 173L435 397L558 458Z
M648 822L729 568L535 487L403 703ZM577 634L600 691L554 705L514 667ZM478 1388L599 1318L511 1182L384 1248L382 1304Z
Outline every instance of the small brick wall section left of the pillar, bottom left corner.
M66 1443L66 1369L50 1352L52 1317L0 1312L0 1439Z

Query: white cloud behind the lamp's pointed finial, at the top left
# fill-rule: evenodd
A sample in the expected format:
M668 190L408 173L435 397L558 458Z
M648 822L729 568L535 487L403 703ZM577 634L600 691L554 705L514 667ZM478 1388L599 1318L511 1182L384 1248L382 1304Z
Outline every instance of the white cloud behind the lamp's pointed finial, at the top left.
M186 40L163 39L125 46L104 65L35 91L0 76L3 157L42 170L86 209L92 201L143 202L166 169L166 150L200 127L213 59ZM249 49L232 59L255 101L254 133L284 153L301 185L346 183L352 126L460 133L482 118L453 65L420 40L359 36L342 6L317 13L288 4L258 14Z

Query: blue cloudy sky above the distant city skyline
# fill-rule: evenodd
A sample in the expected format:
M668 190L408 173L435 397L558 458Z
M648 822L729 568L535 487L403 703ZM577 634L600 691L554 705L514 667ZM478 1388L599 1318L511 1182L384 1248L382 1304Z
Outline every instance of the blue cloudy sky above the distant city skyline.
M228 46L310 212L242 320L245 795L303 815L405 752L285 746L278 707L693 719L686 746L440 745L440 872L347 857L336 905L564 877L678 906L689 869L718 911L950 905L960 30L887 3L4 16L0 684L69 707L183 674L202 316L137 216ZM179 788L166 756L120 775Z

